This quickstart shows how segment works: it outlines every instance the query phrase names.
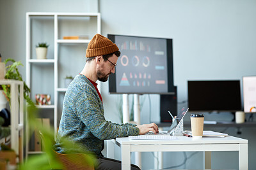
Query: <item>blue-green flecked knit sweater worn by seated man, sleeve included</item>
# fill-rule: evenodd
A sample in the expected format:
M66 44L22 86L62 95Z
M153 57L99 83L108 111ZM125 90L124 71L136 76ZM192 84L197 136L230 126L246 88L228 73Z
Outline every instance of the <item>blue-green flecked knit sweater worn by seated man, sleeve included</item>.
M72 148L61 146L61 138L67 137L85 146L97 157L103 157L101 150L105 139L138 135L140 130L135 126L135 124L115 124L106 121L103 104L95 87L86 76L79 74L70 83L65 94L54 147L58 153L67 153L68 150L72 150Z

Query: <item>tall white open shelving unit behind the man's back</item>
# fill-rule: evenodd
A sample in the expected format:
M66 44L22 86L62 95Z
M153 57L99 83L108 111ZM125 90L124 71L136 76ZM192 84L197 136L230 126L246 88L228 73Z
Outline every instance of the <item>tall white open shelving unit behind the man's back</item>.
M67 21L68 24L65 24ZM74 24L75 22L79 22L78 24ZM36 25L38 22L40 24ZM86 22L86 24L83 24ZM36 26L33 27L33 24ZM47 25L52 29L51 31L45 31L44 26ZM38 69L44 69L44 67L52 69L53 74L53 85L52 89L49 91L53 91L51 94L51 98L53 98L52 105L50 106L38 106L38 108L44 110L49 109L53 110L53 126L55 132L58 128L58 108L60 110L60 94L63 95L67 88L61 87L60 83L60 62L63 60L60 57L63 57L63 53L61 54L61 49L72 49L76 48L76 46L87 46L91 39L62 39L63 36L73 36L70 32L76 32L75 29L79 29L78 32L83 32L83 34L88 35L89 38L92 38L95 34L100 34L100 13L38 13L38 12L28 12L26 13L26 83L31 89L31 94L36 93L33 92L33 80L36 76L33 75L32 67L38 66ZM35 30L41 29L41 32L36 34ZM79 33L78 33L79 34ZM77 34L76 34L77 35ZM35 40L33 39L34 37ZM35 57L35 49L33 46L38 43L38 41L45 41L45 37L50 39L50 46L52 50L48 50L47 59L38 60ZM36 41L37 40L37 41ZM86 49L84 49L83 57L85 57ZM49 57L49 58L48 58ZM77 69L77 68L74 68ZM83 69L83 67L79 68ZM44 70L43 70L44 71ZM49 70L48 70L49 71ZM65 71L65 70L64 70ZM67 73L68 74L68 73ZM36 82L41 85L42 82ZM45 85L47 82L44 82ZM44 87L42 88L44 89ZM100 87L99 87L100 90ZM40 93L38 93L40 94ZM44 90L44 94L48 94L47 90ZM33 96L31 97L33 99ZM62 103L61 103L62 104ZM62 106L62 105L61 105ZM61 107L62 108L62 107ZM59 111L59 114L61 111ZM28 140L27 140L28 141ZM33 153L29 151L29 143L27 142L26 153ZM37 152L34 152L37 153Z

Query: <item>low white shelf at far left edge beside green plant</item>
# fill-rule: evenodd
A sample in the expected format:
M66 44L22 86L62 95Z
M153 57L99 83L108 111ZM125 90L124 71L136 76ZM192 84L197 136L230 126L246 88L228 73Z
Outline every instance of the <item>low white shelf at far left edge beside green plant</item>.
M11 140L12 149L15 151L17 155L19 155L20 161L22 161L23 160L23 139L24 139L23 81L0 80L0 85L10 85L11 87L11 92L10 92L11 94L11 107L10 107L11 108L11 111L10 111L11 135L7 137L7 140L9 139ZM19 90L20 90L20 96L19 96ZM1 143L4 143L4 140L1 139Z

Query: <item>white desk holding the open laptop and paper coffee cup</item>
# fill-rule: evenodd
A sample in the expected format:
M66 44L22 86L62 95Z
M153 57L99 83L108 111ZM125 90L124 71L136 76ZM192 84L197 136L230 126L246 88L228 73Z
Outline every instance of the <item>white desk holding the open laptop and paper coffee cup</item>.
M126 170L131 169L131 152L206 152L205 157L209 155L211 157L209 153L212 151L238 151L239 169L248 169L248 140L246 139L232 136L199 140L193 140L193 138L186 136L177 136L177 138L179 139L132 141L128 138L112 139L111 142L108 142L108 157L111 157L111 153L113 153L114 143L120 146L122 150L122 169ZM207 164L205 167L209 168Z

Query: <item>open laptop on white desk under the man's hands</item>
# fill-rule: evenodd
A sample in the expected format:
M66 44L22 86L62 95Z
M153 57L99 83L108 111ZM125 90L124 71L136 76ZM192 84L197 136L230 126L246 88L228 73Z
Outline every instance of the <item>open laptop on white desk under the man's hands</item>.
M180 110L179 114L177 115L177 117L173 121L172 125L170 126L169 131L163 131L163 132L159 132L157 134L154 134L154 132L147 132L147 133L141 134L139 136L173 135L173 132L175 131L177 126L180 124L180 120L182 120L182 118L184 118L184 116L186 115L187 112L188 112L188 108L183 107Z

